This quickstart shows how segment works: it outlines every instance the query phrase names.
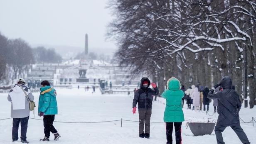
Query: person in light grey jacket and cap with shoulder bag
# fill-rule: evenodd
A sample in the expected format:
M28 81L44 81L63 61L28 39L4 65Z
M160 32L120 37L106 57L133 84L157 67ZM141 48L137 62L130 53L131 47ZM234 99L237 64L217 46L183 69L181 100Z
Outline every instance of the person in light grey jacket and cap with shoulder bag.
M18 131L19 125L21 124L21 142L28 144L27 124L30 117L29 100L33 101L34 95L31 93L30 88L25 85L25 80L23 78L18 79L17 84L15 84L14 87L10 90L7 99L8 101L12 102L12 142L15 142L19 139Z

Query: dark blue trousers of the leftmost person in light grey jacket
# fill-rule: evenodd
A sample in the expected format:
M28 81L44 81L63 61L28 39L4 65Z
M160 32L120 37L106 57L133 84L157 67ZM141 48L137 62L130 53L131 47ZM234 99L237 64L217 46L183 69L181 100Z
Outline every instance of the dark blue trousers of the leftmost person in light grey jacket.
M27 140L27 123L30 117L24 118L13 118L12 119L12 140L18 140L19 124L21 124L20 139L23 141Z

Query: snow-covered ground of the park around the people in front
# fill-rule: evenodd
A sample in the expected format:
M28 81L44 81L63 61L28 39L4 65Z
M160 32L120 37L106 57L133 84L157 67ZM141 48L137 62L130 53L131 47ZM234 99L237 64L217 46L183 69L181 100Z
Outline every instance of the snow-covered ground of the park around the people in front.
M35 102L38 103L39 93L34 93ZM133 95L101 95L99 90L96 93L85 92L84 89L57 89L57 100L59 115L56 115L56 121L63 122L98 122L108 120L135 120L138 121L138 111L135 115L132 113ZM162 122L165 110L165 100L159 98L159 101L153 103L153 112L151 122ZM0 93L0 119L10 117L10 105L7 101L7 94ZM215 118L199 112L187 110L185 106L185 120L197 117ZM213 113L211 103L210 114ZM33 112L30 117L41 119L35 116ZM240 117L246 121L251 121L256 117L256 108L242 108ZM27 130L27 140L31 144L41 144L39 139L44 137L43 121L29 120ZM185 122L182 124L183 144L216 144L215 134L194 137L190 129L186 129ZM253 127L250 124L241 124L246 132L251 144L256 143L256 124ZM151 123L150 139L141 139L138 137L138 122L121 121L90 124L71 124L54 122L54 127L61 134L59 141L47 142L47 144L165 144L165 123ZM173 133L173 138L175 134ZM20 136L20 133L19 133ZM238 137L230 127L223 133L226 144L241 144ZM175 139L175 138L174 138ZM53 140L51 134L50 140ZM19 139L20 141L20 139ZM20 142L15 142L18 144ZM0 121L0 144L13 144L12 142L12 119Z

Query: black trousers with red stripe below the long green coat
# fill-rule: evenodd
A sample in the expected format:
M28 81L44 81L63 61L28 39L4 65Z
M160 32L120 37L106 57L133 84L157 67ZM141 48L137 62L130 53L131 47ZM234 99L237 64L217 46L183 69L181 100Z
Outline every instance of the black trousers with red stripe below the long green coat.
M172 129L173 125L175 128L175 139L176 144L181 144L182 138L181 138L181 125L182 122L166 122L166 144L172 144Z

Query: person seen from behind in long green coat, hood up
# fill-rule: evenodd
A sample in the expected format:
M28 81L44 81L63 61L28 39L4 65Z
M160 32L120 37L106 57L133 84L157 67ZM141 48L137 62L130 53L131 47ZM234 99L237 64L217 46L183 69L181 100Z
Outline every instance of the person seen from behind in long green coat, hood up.
M172 144L173 125L175 127L176 144L181 144L181 126L185 120L182 110L184 92L180 90L180 81L174 77L170 78L167 81L167 90L161 96L166 99L164 114L164 122L166 122L166 144Z

